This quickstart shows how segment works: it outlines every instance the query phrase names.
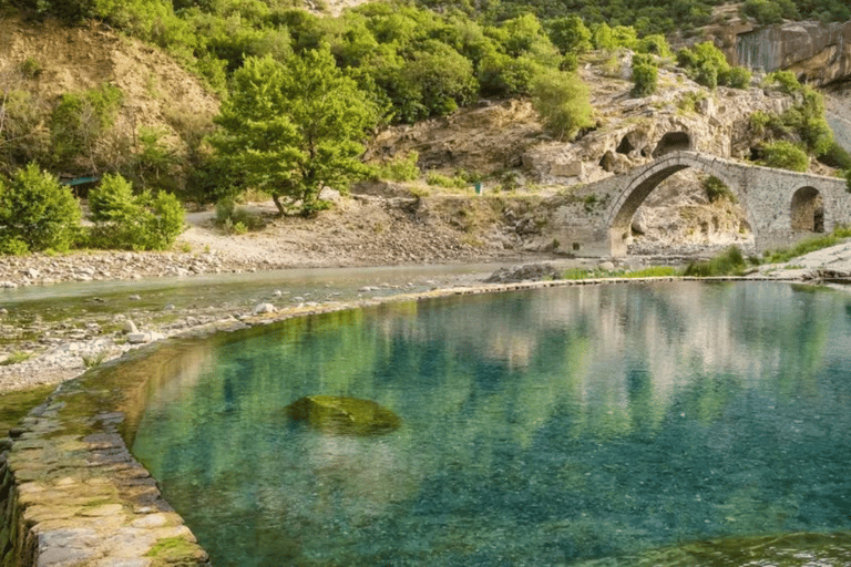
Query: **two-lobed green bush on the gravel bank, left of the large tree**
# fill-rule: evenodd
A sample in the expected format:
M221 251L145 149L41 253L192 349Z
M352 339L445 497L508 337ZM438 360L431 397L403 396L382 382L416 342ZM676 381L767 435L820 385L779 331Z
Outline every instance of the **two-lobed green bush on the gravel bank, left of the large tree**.
M101 185L89 192L89 208L94 221L91 245L98 248L164 250L183 231L184 210L177 197L134 195L121 175L104 175Z

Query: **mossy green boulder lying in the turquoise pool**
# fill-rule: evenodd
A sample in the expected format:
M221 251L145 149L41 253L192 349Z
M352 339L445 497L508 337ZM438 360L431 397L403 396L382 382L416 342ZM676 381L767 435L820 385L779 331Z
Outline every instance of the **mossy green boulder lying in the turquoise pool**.
M290 420L321 431L355 435L387 433L401 425L397 414L372 400L341 395L309 395L287 405Z

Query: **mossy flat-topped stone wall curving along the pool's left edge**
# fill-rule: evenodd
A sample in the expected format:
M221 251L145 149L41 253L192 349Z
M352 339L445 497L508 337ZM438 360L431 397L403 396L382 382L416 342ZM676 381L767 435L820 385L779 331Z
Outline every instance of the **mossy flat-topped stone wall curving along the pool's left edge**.
M0 441L0 567L208 565L121 434L174 358L157 352L65 382Z

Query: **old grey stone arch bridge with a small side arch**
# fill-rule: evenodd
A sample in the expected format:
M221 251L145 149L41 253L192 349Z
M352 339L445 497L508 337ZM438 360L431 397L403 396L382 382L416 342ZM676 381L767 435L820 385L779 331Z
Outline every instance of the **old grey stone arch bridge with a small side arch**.
M624 256L632 219L647 196L667 177L694 167L718 177L745 210L758 251L788 247L818 233L851 225L851 194L844 179L775 169L698 152L663 155L627 174L589 184L583 193L602 195L591 224L562 216L561 249L583 255ZM589 207L585 207L588 212ZM580 215L585 216L585 215ZM574 217L575 218L575 217ZM587 223L585 216L585 223Z

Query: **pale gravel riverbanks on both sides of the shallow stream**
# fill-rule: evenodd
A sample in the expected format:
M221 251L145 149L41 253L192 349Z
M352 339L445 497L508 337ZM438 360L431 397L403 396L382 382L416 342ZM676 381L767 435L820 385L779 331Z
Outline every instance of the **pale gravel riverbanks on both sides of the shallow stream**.
M289 228L280 225L274 230L234 238L216 230L211 217L211 213L189 216L189 229L176 246L176 249L188 251L0 257L0 288L6 288L0 289L0 394L39 384L59 383L79 375L91 365L120 357L139 344L204 326L233 322L257 315L255 311L258 309L296 312L340 301L471 286L484 281L494 271L494 268L482 268L479 272L466 270L463 274L447 270L442 277L411 276L410 281L392 284L382 281L383 276L376 275L373 280L361 279L349 284L348 288L346 285L337 286L332 291L320 290L312 296L305 293L305 297L286 286L275 290L267 286L263 291L265 297L263 293L250 299L216 297L215 292L207 289L208 280L198 278L204 278L204 275L262 275L270 270L306 266L332 268L406 264L401 261L402 258L422 252L413 243L420 243L423 237L400 237L392 246L381 246L375 241L369 244L367 238L360 254L348 254L346 250L350 250L348 244L351 243L346 240L347 246L342 246L336 239L332 226L321 225L315 233L308 234L300 223ZM553 272L576 266L637 269L648 265L684 261L684 258L662 256L628 257L621 262L605 258L556 259L541 254L471 247L445 238L434 240L441 241L445 244L435 246L432 243L430 249L433 255L429 261L407 264L470 265L479 261L510 266L547 262L554 268L531 272L552 277ZM319 254L318 248L325 248L326 254ZM381 269L375 268L377 272ZM820 250L786 265L761 266L753 276L789 280L848 279L851 277L851 245ZM238 280L240 277L235 278ZM110 282L137 280L140 288L144 289L145 282L164 279L177 281L188 289L193 289L197 281L198 297L174 305L162 293L156 300L147 300L144 291L132 291L134 288L131 282L126 288L131 291L107 299L92 293L79 299L71 297L63 302L61 309L54 309L55 312L38 312L38 307L24 310L19 303L3 298L3 293L7 293L8 299L29 288L43 291L41 297L48 298L47 305L50 305L50 290L58 289L52 285L60 282L79 282L99 289L101 281L107 288L112 285ZM38 306L38 302L33 302L33 306Z

